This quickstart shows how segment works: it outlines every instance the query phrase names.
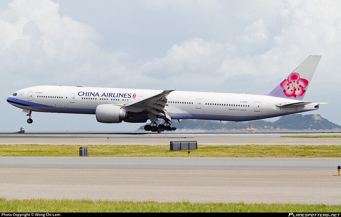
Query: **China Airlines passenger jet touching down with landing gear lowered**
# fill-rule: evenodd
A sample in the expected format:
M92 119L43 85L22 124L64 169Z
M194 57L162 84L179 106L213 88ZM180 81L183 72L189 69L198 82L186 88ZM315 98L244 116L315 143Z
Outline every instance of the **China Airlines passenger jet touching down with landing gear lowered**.
M7 102L28 113L32 111L95 114L101 123L145 123L152 132L175 130L173 120L202 119L250 121L319 109L303 101L320 61L310 55L267 95L99 88L85 86L34 86L20 89ZM158 124L159 119L165 121Z

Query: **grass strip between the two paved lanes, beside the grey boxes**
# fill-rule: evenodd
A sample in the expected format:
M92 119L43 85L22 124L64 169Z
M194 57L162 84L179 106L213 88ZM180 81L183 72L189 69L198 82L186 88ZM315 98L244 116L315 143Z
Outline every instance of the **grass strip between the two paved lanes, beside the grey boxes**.
M86 145L83 145L86 146ZM89 157L188 157L168 145L87 145ZM0 156L79 156L81 145L0 145ZM341 157L341 145L198 145L190 157Z

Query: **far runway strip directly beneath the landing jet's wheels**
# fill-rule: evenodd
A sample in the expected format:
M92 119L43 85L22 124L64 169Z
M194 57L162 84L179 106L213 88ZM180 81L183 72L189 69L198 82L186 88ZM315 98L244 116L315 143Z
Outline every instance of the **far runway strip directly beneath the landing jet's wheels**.
M341 138L290 138L295 135L341 133L1 133L0 145L170 145L198 141L198 145L340 145Z

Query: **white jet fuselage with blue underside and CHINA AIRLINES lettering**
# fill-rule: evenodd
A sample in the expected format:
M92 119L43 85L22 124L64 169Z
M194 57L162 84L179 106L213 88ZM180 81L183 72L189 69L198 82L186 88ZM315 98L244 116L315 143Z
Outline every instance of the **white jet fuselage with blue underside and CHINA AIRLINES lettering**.
M95 114L98 105L125 106L160 91L35 86L18 90L7 98L7 102L28 111ZM302 101L264 95L172 91L167 96L164 109L171 115L171 119L221 121L249 121L318 109L317 103L291 108L276 106L299 102ZM131 115L147 118L144 112L132 112Z

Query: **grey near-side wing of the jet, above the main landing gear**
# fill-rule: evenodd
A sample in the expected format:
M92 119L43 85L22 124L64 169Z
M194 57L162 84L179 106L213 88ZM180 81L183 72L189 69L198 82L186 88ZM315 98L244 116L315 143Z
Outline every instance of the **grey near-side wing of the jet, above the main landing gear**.
M174 90L164 90L155 95L141 99L139 101L122 105L124 109L130 112L147 111L149 119L153 122L157 116L166 116L171 121L171 115L166 111L167 96Z

